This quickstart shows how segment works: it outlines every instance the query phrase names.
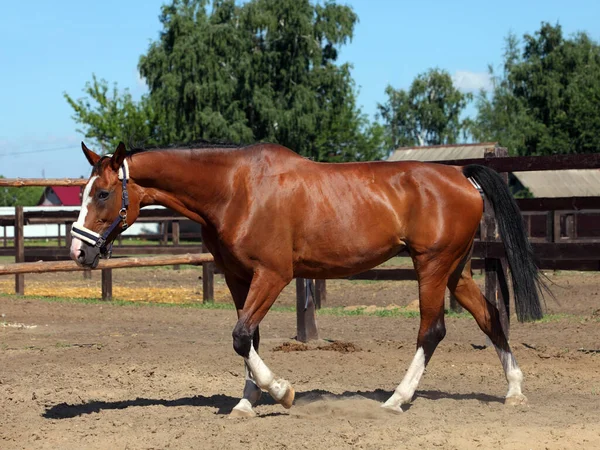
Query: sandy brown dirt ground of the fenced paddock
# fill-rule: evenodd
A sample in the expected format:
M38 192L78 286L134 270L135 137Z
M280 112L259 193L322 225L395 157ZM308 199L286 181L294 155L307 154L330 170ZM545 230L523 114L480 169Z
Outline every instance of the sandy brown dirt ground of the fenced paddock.
M98 278L28 276L27 293L73 289L78 297L97 297ZM261 325L261 354L294 385L295 405L285 410L264 394L258 417L232 419L227 414L244 384L231 345L233 310L4 294L0 448L600 448L600 278L551 278L559 301L548 303L553 315L533 324L513 321L527 406L503 405L506 381L495 352L481 349L485 340L472 319L453 317L413 403L400 415L379 405L413 357L418 318L325 310L318 317L323 340L286 352L277 349L291 342L295 314L270 312ZM198 299L197 269L125 270L114 279L118 298ZM0 292L12 283L0 279ZM413 282L328 287L328 307L374 305L377 311L416 298ZM216 297L227 301L221 281ZM293 303L290 287L278 304ZM330 350L331 341L346 351Z

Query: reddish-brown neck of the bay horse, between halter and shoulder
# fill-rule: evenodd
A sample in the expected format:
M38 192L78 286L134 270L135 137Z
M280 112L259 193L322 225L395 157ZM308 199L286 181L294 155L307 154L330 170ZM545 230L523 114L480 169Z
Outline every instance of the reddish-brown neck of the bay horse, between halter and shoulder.
M232 195L234 156L218 149L133 155L131 178L143 190L141 206L165 206L204 226L216 225Z

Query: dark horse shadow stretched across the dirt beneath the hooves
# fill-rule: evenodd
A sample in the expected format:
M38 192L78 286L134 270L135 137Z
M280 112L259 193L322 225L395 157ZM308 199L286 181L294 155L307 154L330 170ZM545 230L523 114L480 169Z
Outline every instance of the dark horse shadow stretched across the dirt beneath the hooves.
M375 389L373 391L346 391L341 394L335 394L322 389L313 389L310 391L296 392L296 405L306 405L315 402L331 401L331 400L345 400L351 398L364 398L368 400L374 400L383 403L389 398L391 392L383 389ZM417 391L415 398L424 398L427 400L442 400L450 399L455 401L462 400L478 400L482 403L504 403L504 398L493 395L480 394L480 393L448 393L437 390L429 391ZM59 403L46 408L42 417L45 419L72 419L75 417L83 416L86 414L99 413L101 411L119 410L131 407L147 407L147 406L195 406L195 407L208 407L216 408L215 414L226 415L231 412L233 407L238 403L238 397L231 397L224 394L214 394L211 396L194 395L191 397L181 397L174 400L165 400L158 398L141 398L137 397L132 400L120 400L107 402L102 400L94 400L90 402L82 402L76 404ZM260 405L275 405L276 402L273 398L264 394L259 403ZM403 409L406 411L410 409L412 403L403 405ZM267 415L260 415L259 417L267 417L273 415L280 415L282 413L271 413Z

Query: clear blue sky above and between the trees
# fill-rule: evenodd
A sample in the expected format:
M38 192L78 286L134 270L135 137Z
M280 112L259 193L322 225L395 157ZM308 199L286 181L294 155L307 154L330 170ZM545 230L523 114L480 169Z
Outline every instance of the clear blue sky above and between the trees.
M99 78L145 92L137 63L160 30L163 0L4 2L0 15L0 174L88 176L83 136L63 92L82 95ZM360 22L342 50L353 64L359 104L373 115L388 84L406 88L432 67L450 72L462 90L487 82L499 66L504 38L533 33L542 21L566 34L600 40L597 0L347 0Z

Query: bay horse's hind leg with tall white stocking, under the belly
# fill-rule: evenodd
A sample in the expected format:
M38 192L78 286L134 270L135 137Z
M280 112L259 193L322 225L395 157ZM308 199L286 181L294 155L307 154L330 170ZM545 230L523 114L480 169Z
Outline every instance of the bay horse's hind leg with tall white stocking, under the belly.
M446 335L444 323L444 294L448 281L448 271L440 267L439 260L415 266L419 274L419 308L421 324L417 337L415 356L392 396L382 405L383 408L402 412L401 405L409 403L425 372L425 367L433 356L438 344Z

